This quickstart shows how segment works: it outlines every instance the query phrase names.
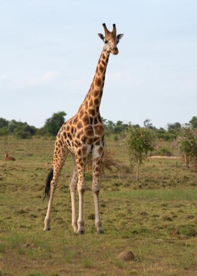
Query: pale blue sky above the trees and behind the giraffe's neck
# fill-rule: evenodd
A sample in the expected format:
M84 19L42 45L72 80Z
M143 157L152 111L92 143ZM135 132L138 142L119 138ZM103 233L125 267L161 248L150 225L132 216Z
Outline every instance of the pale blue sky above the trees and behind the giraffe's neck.
M102 117L165 127L197 116L196 0L0 0L0 117L41 127L53 112L73 116L95 74L102 23L124 34Z

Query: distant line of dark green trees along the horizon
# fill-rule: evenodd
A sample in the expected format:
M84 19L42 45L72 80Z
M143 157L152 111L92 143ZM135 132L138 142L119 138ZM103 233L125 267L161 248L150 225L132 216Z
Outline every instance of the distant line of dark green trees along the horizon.
M35 135L44 136L44 135L51 135L56 136L59 129L65 122L65 111L59 111L53 113L52 116L46 119L44 126L41 128L36 128L34 126L30 126L27 122L21 122L16 120L8 121L4 118L0 118L0 136L2 135L14 135L18 138L31 138ZM123 121L118 120L116 123L107 120L104 118L102 119L102 123L105 128L105 135L117 135L124 133L127 131L131 125L131 123L124 123ZM197 116L194 116L188 124L193 128L197 129ZM175 123L168 123L167 128L156 128L151 123L151 120L146 119L143 122L143 127L140 127L138 124L134 125L137 128L145 128L152 130L157 138L162 140L173 140L176 139L181 132L182 126L179 122Z

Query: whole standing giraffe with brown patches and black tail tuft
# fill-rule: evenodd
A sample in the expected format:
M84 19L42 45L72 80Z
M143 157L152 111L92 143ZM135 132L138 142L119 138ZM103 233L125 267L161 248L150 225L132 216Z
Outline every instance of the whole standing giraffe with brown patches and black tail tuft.
M93 183L92 193L95 204L95 226L97 233L104 233L99 213L99 167L104 153L104 127L100 118L99 105L105 80L105 71L110 53L118 54L117 44L123 34L116 35L116 25L113 24L112 32L109 32L105 23L102 24L105 36L98 34L104 42L96 73L90 89L80 105L78 112L67 120L60 128L54 149L53 169L46 178L45 195L49 197L46 217L44 219L43 231L50 230L50 213L58 179L70 153L73 162L73 169L70 177L69 189L72 208L72 227L74 232L84 234L83 204L85 182L85 162L89 153L93 157ZM76 189L79 194L79 214L76 213Z

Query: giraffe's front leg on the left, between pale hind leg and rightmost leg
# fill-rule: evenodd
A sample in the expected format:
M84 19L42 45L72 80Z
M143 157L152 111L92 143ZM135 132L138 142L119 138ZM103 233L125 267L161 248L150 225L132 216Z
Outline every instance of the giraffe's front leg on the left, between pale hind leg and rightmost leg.
M85 158L76 157L76 166L78 171L78 182L77 182L77 190L79 193L79 217L77 220L78 225L78 234L84 234L84 219L83 219L83 203L84 203L84 193L86 190L86 182L85 182Z

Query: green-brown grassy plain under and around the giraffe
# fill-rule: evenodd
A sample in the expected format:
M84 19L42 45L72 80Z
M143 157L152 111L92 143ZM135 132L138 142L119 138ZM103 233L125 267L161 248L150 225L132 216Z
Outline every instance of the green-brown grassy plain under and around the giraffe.
M54 140L0 138L0 276L197 275L197 175L180 159L151 159L136 186L123 141L107 138L106 144L123 170L101 177L105 234L96 235L88 174L86 233L78 236L71 227L70 157L54 199L52 230L46 233L42 195ZM16 161L4 161L4 150ZM118 260L124 250L135 260Z

